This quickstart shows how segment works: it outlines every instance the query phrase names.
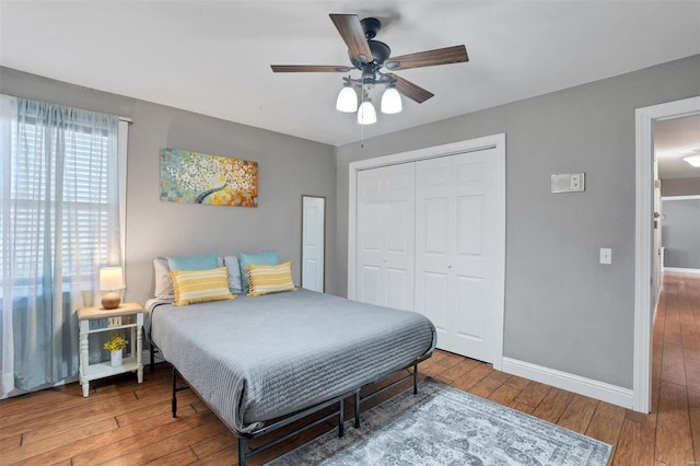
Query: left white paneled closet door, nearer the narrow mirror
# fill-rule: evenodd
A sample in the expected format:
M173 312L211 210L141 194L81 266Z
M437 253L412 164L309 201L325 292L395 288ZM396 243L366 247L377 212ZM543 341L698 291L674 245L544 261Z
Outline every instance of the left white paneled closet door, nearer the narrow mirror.
M415 185L415 163L358 173L358 301L413 310Z

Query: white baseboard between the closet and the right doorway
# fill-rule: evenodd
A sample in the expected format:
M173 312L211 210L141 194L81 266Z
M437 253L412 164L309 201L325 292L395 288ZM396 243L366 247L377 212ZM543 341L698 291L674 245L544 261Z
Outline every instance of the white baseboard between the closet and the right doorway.
M629 388L610 385L593 378L557 371L512 358L503 358L503 372L551 385L612 405L632 409L634 393Z

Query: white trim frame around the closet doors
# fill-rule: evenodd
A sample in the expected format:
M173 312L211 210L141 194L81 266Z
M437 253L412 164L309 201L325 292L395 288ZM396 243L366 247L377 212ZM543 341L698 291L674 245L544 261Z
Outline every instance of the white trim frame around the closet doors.
M469 139L465 141L452 142L447 144L434 145L425 149L418 149L407 152L399 152L390 155L352 162L349 165L348 184L348 299L355 299L357 289L357 215L358 215L358 172L381 166L396 165L399 163L415 162L419 160L448 156L465 152L476 152L480 150L494 149L497 156L497 171L501 186L499 187L500 202L502 211L498 215L498 228L494 235L500 246L497 252L495 288L500 290L497 296L497 315L493 325L497 327L494 339L493 369L500 371L503 366L503 322L505 313L505 133L485 136L482 138Z

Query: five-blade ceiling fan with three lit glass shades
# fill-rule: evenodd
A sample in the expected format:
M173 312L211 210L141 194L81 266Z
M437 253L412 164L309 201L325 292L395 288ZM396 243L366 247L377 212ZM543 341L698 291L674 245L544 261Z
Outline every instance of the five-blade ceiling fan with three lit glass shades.
M343 77L343 88L338 95L336 108L340 112L354 113L358 110L358 123L362 125L376 121L376 112L372 105L370 90L375 84L385 84L382 96L383 113L398 113L401 110L399 93L422 104L434 94L417 84L389 71L407 70L410 68L433 67L436 65L459 63L468 61L467 49L464 45L438 48L434 50L392 57L392 49L383 42L375 40L382 28L376 18L365 18L360 21L357 14L330 14L330 21L348 46L351 66L347 65L272 65L276 73L294 72L340 72L360 70L362 75L353 79ZM358 109L358 90L361 105Z

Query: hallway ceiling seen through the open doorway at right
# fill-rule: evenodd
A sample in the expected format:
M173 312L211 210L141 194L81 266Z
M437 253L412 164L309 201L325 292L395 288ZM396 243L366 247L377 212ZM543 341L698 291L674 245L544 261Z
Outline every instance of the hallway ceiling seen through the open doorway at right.
M700 115L655 121L654 152L660 178L700 178L700 167L682 160L700 154Z

